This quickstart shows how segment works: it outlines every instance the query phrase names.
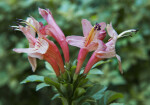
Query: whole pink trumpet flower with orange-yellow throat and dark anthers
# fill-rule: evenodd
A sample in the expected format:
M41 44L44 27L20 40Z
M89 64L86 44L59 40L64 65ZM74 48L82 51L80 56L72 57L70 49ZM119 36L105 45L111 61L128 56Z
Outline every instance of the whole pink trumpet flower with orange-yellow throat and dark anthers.
M88 52L96 50L98 47L98 40L103 40L105 38L106 36L106 31L104 30L105 27L106 24L104 22L99 24L96 23L96 25L93 27L88 20L83 19L82 28L84 37L68 36L66 38L68 44L81 48L77 58L78 63L76 68L76 74L80 72L80 69Z

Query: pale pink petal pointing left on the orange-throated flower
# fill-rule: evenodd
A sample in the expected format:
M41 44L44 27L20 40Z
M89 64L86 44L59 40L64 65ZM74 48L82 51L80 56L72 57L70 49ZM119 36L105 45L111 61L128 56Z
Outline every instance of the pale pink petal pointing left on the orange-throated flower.
M67 36L66 41L72 46L83 48L85 38L82 36Z

